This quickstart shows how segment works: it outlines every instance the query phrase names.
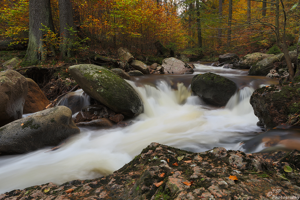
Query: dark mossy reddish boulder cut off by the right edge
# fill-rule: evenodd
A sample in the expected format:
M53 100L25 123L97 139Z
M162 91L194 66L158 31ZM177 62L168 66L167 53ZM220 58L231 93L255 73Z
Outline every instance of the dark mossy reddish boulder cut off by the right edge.
M271 85L253 92L250 104L266 130L286 123L289 116L300 113L300 83Z

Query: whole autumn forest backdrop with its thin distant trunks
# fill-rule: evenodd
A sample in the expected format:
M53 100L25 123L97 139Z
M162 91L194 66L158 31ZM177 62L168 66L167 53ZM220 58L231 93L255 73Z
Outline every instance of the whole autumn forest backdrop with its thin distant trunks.
M63 40L66 43L59 1L65 0L49 0L53 27L39 28L48 55L59 52ZM279 37L294 50L299 36L298 0L71 0L73 24L65 29L73 34L67 43L74 45L68 48L78 51L88 46L100 51L124 46L149 55L156 52L154 43L159 40L167 48L206 58L229 52L265 53L272 47L278 51L274 47L276 2ZM0 10L0 39L28 41L29 0L2 0Z

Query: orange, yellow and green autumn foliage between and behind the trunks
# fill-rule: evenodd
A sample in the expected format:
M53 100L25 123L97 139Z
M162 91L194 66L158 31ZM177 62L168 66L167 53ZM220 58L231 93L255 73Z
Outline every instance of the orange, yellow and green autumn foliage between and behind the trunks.
M53 24L59 33L58 1L51 0ZM250 22L247 1L232 1L232 24L228 25L229 0L71 0L74 24L79 37L90 38L89 45L103 48L126 46L139 52L155 52L154 42L178 49L198 47L220 50L231 46L265 51L274 45L274 33L268 23L274 21L274 5L267 4L262 17L262 2L251 1ZM197 4L198 2L198 4ZM283 0L289 10L297 0ZM197 6L198 5L198 6ZM0 5L0 39L16 41L28 37L28 0L2 0ZM298 39L299 9L289 12L286 25L288 43ZM282 22L282 18L280 18ZM261 23L257 23L257 22ZM282 23L280 24L282 26ZM231 34L227 31L230 28ZM221 35L218 35L218 30ZM228 49L226 49L228 50Z

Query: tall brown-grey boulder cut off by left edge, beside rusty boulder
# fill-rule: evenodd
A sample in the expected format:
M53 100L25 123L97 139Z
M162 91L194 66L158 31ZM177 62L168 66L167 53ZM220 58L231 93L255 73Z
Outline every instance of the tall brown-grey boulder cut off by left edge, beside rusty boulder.
M28 83L14 70L0 72L0 127L22 118Z

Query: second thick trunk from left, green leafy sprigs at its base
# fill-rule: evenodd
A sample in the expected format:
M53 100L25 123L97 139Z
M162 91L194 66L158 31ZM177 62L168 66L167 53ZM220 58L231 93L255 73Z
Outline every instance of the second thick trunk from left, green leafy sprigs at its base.
M73 7L70 0L59 0L59 30L60 30L60 58L73 57L73 41L74 41L74 21L73 21ZM73 31L72 31L73 29Z

